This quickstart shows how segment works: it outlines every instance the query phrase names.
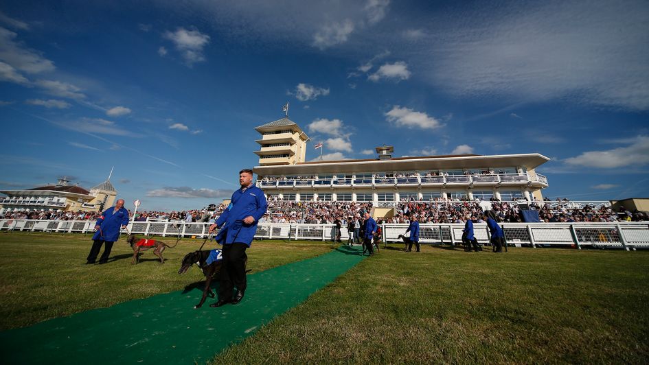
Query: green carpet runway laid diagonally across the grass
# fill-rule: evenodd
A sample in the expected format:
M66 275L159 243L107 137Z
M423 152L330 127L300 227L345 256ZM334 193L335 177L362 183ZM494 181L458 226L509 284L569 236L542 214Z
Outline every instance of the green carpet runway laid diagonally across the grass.
M248 275L244 300L210 308L195 289L159 294L0 333L3 364L205 363L363 259L361 248ZM198 270L194 266L190 270Z

